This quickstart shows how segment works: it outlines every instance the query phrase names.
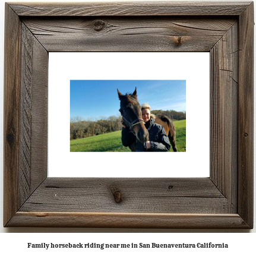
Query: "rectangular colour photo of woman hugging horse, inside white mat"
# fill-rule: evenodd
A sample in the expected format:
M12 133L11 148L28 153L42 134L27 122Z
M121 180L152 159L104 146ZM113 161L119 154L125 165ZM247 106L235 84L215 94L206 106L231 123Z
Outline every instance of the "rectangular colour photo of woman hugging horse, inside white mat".
M185 152L185 80L71 80L71 152Z

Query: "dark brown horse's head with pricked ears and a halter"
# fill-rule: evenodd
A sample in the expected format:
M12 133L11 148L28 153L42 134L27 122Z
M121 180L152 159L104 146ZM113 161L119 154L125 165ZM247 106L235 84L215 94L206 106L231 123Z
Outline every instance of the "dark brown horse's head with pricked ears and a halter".
M148 141L148 131L144 125L141 106L137 99L137 89L132 94L123 95L118 90L118 97L120 100L120 109L124 124L126 127L134 132L141 143Z

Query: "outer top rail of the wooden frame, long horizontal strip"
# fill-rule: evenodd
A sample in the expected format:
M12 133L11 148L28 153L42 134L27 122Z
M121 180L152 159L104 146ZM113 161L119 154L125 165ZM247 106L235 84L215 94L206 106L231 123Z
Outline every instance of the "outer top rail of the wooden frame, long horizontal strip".
M10 3L20 16L239 15L248 1Z

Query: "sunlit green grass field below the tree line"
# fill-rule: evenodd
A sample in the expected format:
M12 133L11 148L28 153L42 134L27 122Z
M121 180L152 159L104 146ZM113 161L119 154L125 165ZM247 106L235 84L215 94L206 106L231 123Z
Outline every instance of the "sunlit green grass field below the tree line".
M176 128L176 146L179 152L186 151L186 120L173 122ZM100 134L70 141L71 152L130 152L122 146L121 131ZM172 148L169 152L172 152Z

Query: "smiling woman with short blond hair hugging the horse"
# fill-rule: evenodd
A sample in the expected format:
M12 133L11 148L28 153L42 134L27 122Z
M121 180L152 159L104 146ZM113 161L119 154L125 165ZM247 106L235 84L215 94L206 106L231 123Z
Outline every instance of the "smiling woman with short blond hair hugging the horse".
M170 141L166 135L165 129L162 125L154 123L154 115L150 112L150 106L148 103L143 103L141 105L141 112L143 121L146 123L145 127L148 130L148 141L146 143L141 143L137 140L134 134L129 131L129 128L126 128L122 124L122 144L125 147L131 146L132 143L135 143L136 151L169 151L170 150Z

